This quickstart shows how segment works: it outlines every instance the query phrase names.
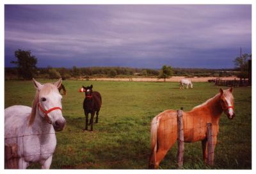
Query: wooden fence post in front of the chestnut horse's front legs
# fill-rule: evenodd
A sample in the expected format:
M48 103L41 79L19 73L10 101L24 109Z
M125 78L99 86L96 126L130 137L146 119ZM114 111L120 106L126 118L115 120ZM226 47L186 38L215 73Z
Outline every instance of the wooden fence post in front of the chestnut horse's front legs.
M214 145L212 142L212 123L207 123L207 164L213 166Z

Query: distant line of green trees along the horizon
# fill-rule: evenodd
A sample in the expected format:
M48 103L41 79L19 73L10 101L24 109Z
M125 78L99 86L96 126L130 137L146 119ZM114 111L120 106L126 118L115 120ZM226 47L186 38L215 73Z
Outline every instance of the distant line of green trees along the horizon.
M207 69L207 68L173 68L168 65L163 65L161 69L152 68L130 68L130 67L72 67L72 68L54 68L48 66L46 68L36 67L37 58L31 55L31 51L15 51L15 57L17 61L11 61L11 63L17 65L15 68L5 67L6 79L13 77L19 79L30 80L32 77L56 79L62 77L62 79L69 79L70 77L82 77L90 79L90 77L158 77L164 80L168 77L174 76L186 76L186 77L224 77L231 75L241 75L246 70L246 56L243 59L234 60L236 69ZM239 63L237 63L239 62ZM239 67L241 65L241 67ZM243 72L239 70L243 69ZM234 70L237 70L234 71Z

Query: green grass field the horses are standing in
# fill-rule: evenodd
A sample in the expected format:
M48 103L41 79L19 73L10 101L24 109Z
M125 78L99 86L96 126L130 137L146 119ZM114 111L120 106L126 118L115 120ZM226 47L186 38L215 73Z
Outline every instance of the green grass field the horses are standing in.
M40 80L38 80L40 81ZM45 80L40 82L45 83ZM57 147L51 168L58 169L147 169L150 154L150 122L165 109L185 111L218 93L212 83L195 83L179 90L179 83L63 81L64 131L56 133ZM93 132L83 132L82 85L93 84L102 95L99 123ZM31 106L35 88L31 81L6 81L4 106ZM252 89L235 88L234 120L221 115L220 134L212 169L252 168ZM177 145L168 152L161 169L176 169ZM40 168L38 164L30 168ZM209 169L202 161L201 143L185 143L184 169Z

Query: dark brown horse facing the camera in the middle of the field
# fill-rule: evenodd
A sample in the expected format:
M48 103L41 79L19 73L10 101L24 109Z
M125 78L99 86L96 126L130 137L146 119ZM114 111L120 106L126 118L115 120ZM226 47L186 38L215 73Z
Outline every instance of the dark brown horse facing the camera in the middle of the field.
M88 117L91 114L90 125L91 131L93 131L93 117L96 113L95 123L98 123L98 116L100 107L102 104L101 95L97 91L92 91L92 85L81 88L81 92L85 92L85 99L83 103L84 115L85 115L85 128L84 131L88 131Z

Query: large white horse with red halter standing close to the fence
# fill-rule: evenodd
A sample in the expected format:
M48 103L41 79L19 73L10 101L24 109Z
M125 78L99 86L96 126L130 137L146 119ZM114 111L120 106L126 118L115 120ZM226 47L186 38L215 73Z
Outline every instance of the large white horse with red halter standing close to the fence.
M36 95L32 108L15 105L4 109L4 145L18 145L20 169L31 162L40 162L42 169L49 169L56 147L55 131L62 131L66 124L58 90L61 79L54 84L41 84L35 79L33 83Z

